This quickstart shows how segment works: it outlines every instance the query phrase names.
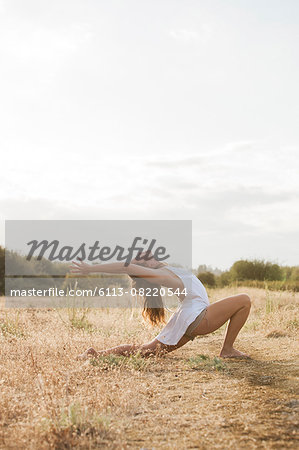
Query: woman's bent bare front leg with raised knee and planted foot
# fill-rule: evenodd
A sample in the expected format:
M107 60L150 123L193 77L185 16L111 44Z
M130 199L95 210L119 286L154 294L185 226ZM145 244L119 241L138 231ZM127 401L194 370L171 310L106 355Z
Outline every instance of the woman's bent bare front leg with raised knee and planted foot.
M193 335L212 333L229 320L220 356L223 358L246 357L247 355L236 350L233 344L247 320L250 306L251 301L247 294L234 295L212 303L202 322L193 331Z

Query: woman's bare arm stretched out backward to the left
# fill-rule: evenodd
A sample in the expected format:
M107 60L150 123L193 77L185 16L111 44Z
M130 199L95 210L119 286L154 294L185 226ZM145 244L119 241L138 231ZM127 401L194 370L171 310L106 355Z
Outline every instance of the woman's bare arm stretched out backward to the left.
M150 269L137 264L129 264L125 266L122 262L90 265L84 262L77 263L73 261L71 272L88 275L89 273L117 273L127 274L135 277L145 278L150 283L160 284L162 286L173 289L182 289L182 281L173 277L172 274L165 269Z

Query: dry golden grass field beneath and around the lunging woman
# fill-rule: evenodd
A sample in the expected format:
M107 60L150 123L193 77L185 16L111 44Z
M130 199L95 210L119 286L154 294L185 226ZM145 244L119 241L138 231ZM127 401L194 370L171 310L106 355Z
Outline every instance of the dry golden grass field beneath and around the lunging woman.
M217 358L222 328L164 357L79 362L89 346L144 342L158 330L138 309L2 305L0 448L298 448L299 294L209 295L243 291L253 307L236 347L249 361Z

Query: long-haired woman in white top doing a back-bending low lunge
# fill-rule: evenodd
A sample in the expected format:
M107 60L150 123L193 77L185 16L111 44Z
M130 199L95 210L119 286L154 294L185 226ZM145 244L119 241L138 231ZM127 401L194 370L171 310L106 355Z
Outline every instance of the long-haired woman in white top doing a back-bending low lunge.
M129 275L137 292L143 294L143 316L155 325L163 323L165 316L162 297L159 294L161 286L171 289L181 301L178 310L153 341L140 345L120 345L101 351L89 348L79 356L80 359L111 353L128 356L136 352L143 355L171 352L196 336L212 333L228 320L220 356L249 358L233 347L250 311L251 301L247 294L227 297L210 305L203 284L193 274L184 269L161 264L153 257L132 260L128 266L121 262L89 265L73 261L71 272L82 275L94 272Z

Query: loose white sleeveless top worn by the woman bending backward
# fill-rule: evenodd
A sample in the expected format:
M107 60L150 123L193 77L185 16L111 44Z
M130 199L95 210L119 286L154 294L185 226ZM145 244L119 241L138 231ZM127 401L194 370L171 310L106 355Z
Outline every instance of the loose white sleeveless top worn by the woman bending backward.
M209 306L210 302L204 285L191 272L172 266L167 266L165 269L171 270L182 280L187 295L156 339L166 345L176 345L189 325Z

